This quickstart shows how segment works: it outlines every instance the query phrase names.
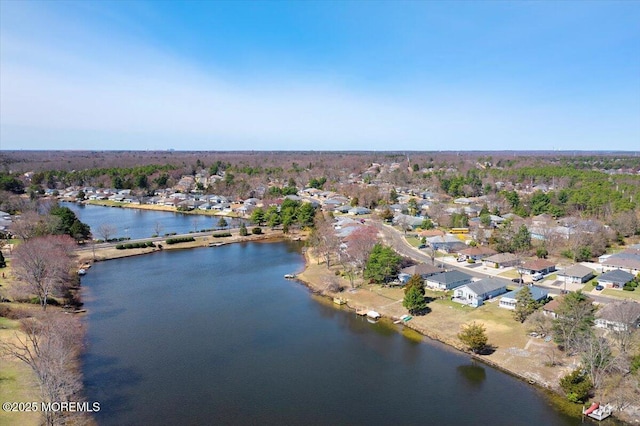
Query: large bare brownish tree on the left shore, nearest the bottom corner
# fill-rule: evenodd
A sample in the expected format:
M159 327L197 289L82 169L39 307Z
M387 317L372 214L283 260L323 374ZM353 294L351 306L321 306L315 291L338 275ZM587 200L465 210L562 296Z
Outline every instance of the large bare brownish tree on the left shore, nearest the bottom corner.
M0 342L0 353L19 359L33 370L43 403L79 399L81 383L75 368L82 343L80 322L59 313L43 312L23 319L21 325L22 333ZM47 425L68 422L64 411L43 414Z

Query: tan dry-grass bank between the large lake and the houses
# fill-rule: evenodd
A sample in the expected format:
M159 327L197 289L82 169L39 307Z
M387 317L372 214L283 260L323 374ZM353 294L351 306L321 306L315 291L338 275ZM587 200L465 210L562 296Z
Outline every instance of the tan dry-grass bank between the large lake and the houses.
M324 263L318 264L318 259L310 251L306 256L307 267L298 278L314 292L330 298L339 296L347 300L350 309L372 309L391 320L397 320L408 313L402 306L404 292L401 288L359 282L355 289L351 289L348 280L339 278L345 290L340 293L329 291L328 284L338 279L336 271L340 271L340 267L327 268ZM433 299L429 303L430 312L414 316L404 326L399 325L400 330L407 327L464 351L457 338L460 327L471 321L482 323L486 327L491 350L486 355L476 356L478 359L551 391L548 396L554 405L563 399L557 397L558 381L572 370L577 359L562 357L553 342L528 336L526 326L517 322L511 311L499 308L497 300L479 308L471 308L452 302L442 292L427 290L426 296ZM548 366L552 358L560 365ZM563 405L564 410L567 410L566 405ZM579 406L571 405L569 411L571 410L573 415L580 414Z

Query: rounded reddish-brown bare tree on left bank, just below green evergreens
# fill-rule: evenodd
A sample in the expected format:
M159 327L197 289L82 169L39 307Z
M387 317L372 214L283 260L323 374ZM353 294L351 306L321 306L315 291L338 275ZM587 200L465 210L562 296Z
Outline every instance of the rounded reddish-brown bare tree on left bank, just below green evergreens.
M75 246L68 235L51 235L25 241L14 250L14 273L38 296L43 310L49 296L69 283Z

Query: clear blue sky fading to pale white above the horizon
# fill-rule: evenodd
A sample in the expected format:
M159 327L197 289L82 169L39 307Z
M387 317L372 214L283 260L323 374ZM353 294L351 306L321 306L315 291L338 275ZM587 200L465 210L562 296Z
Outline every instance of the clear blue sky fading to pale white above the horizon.
M0 0L0 149L640 151L640 2Z

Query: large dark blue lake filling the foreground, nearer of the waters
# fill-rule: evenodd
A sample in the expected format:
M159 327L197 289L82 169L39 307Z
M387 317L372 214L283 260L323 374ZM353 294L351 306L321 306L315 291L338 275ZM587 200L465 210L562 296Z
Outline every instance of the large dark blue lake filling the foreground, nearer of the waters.
M532 387L283 278L291 243L98 263L83 370L100 424L576 425Z

